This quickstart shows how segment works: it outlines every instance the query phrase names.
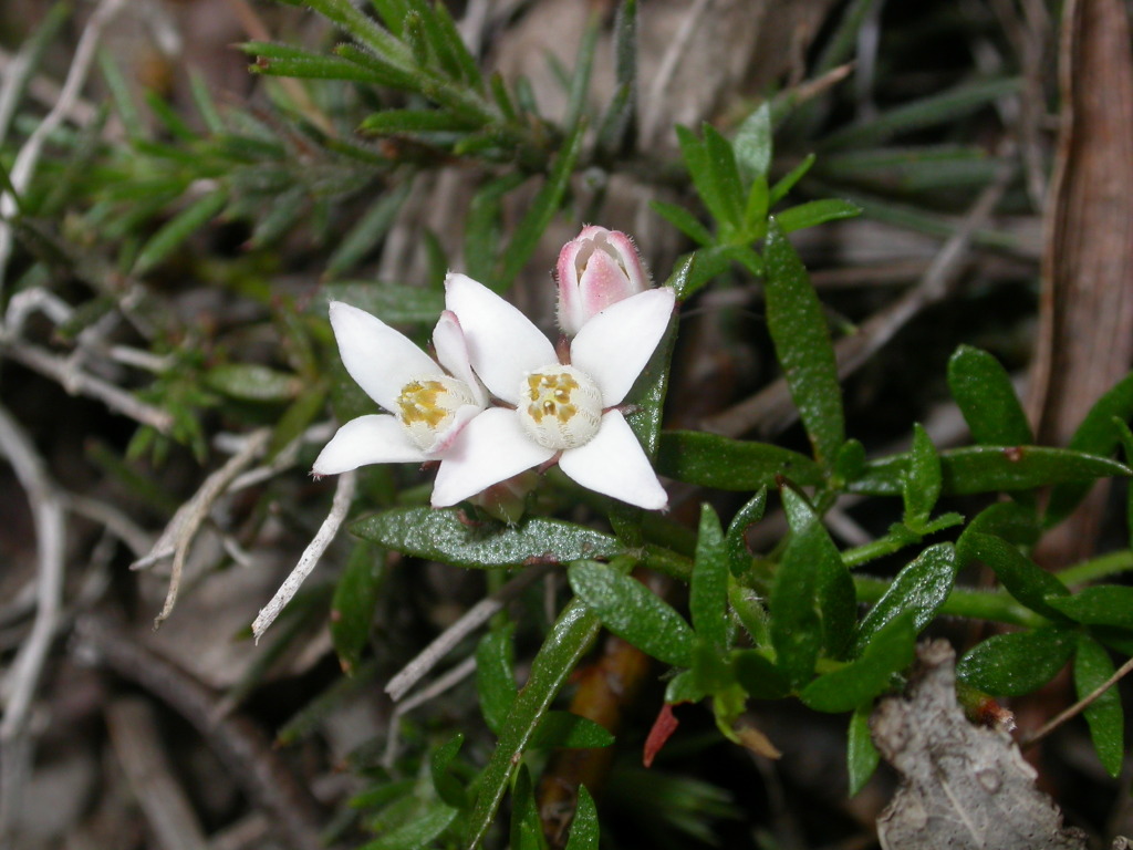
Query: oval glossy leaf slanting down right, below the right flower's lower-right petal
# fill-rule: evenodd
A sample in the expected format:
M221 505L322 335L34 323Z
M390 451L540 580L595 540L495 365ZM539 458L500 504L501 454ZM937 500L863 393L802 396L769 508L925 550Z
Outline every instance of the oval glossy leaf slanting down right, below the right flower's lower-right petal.
M597 561L572 563L566 577L571 589L617 637L666 664L692 664L692 629L640 581Z

